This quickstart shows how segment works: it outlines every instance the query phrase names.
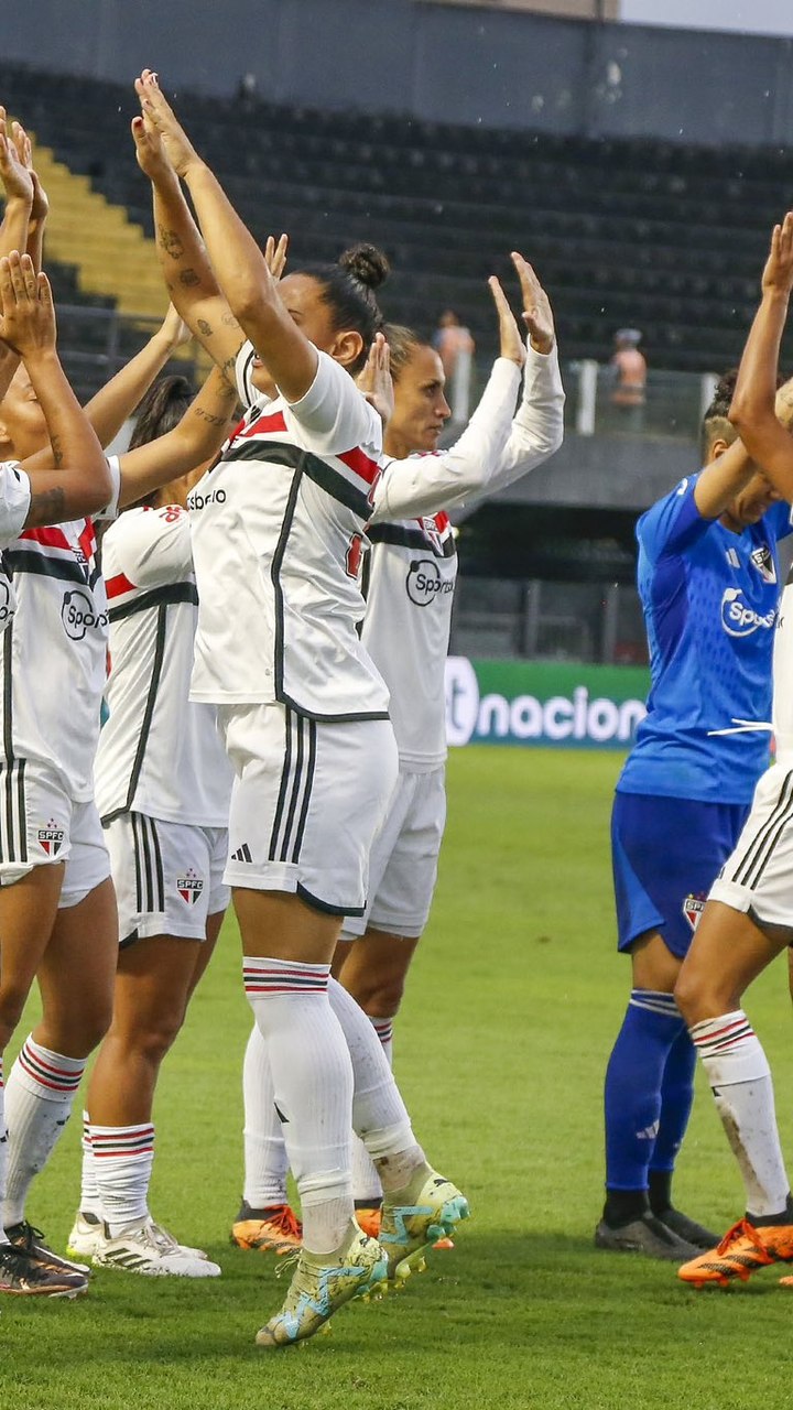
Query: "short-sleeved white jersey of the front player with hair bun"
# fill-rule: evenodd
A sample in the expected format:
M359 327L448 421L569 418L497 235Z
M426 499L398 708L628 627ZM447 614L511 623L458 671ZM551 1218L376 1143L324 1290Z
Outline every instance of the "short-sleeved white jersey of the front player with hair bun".
M244 347L241 395L246 360ZM192 699L281 702L327 722L387 716L357 633L380 451L380 417L325 352L299 402L250 407L188 498L200 598Z

